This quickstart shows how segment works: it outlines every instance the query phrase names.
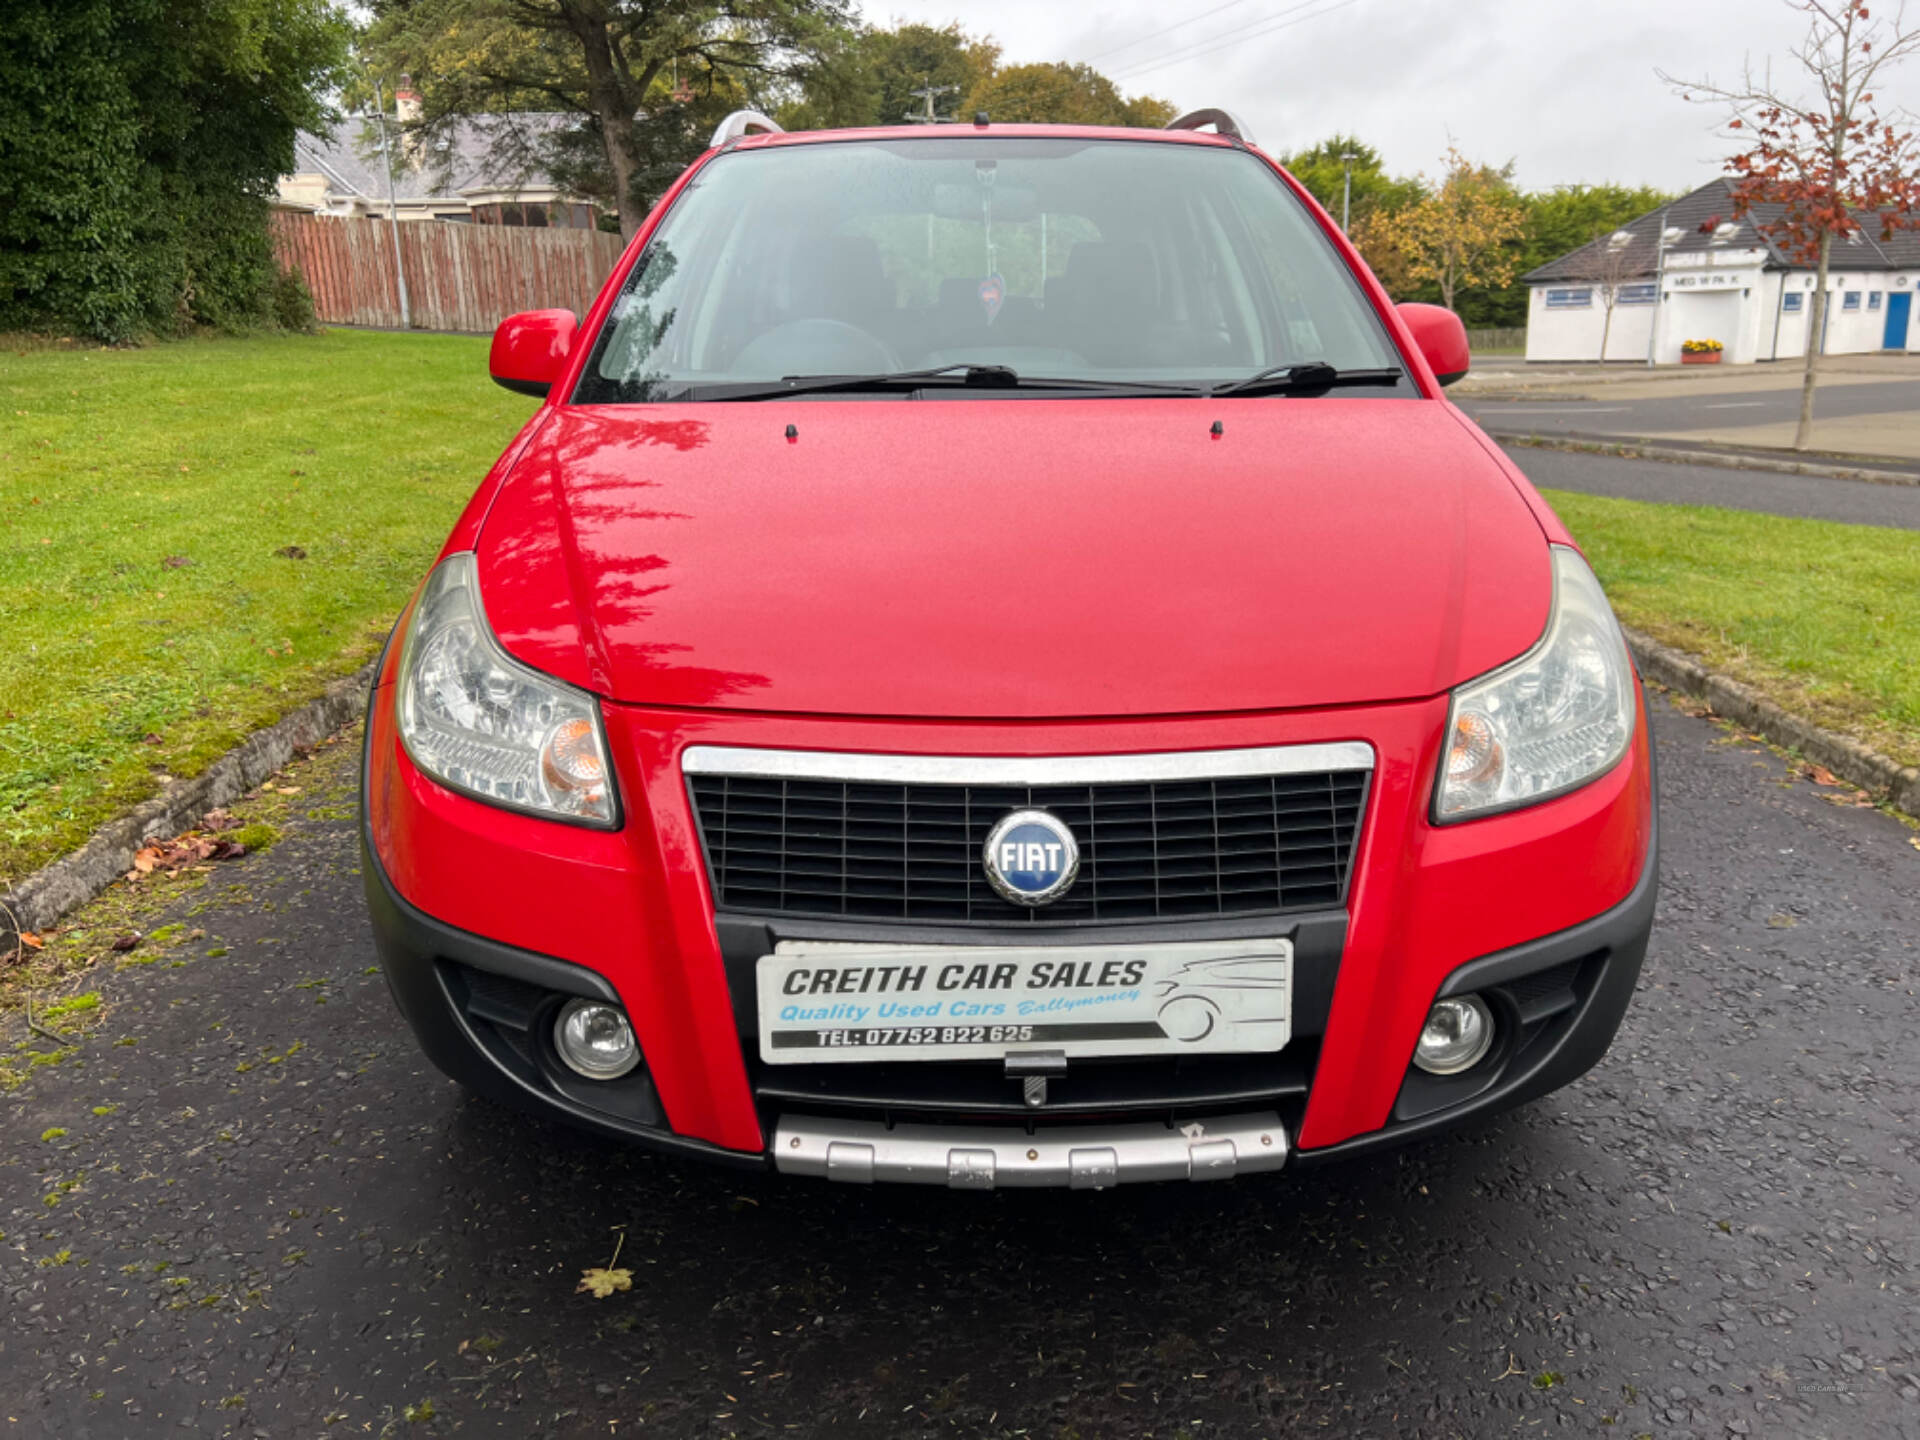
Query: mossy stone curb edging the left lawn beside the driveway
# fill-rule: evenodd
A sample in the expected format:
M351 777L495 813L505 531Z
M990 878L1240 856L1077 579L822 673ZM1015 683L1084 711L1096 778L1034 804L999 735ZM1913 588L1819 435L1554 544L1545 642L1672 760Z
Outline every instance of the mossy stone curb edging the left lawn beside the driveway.
M240 799L298 751L313 749L357 720L367 708L372 672L374 666L367 664L332 682L324 695L265 730L255 730L202 774L179 780L163 795L142 801L119 820L109 820L73 854L42 866L0 895L0 902L13 912L13 922L21 929L46 929L67 910L84 904L125 876L132 868L134 851L148 839L192 829L207 810ZM12 935L13 925L0 910L0 945Z

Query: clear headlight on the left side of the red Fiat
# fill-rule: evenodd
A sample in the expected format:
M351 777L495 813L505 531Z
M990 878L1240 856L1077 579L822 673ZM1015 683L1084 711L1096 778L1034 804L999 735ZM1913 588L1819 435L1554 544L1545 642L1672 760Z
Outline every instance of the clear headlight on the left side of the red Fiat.
M399 737L442 785L511 810L614 824L599 703L499 647L467 551L440 563L413 607Z

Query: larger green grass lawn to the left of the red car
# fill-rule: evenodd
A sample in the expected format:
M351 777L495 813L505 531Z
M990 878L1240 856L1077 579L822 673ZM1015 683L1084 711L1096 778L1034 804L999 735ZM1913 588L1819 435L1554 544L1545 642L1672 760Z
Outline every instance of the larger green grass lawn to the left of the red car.
M532 407L470 336L0 338L0 889L371 659Z

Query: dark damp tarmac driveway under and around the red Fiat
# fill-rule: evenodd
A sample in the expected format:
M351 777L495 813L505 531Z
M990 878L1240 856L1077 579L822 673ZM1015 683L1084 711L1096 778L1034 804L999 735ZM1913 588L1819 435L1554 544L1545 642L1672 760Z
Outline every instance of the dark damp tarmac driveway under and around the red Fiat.
M1920 851L1653 728L1661 918L1599 1069L1112 1194L743 1177L465 1100L369 970L336 747L184 964L106 970L8 1098L4 1434L1912 1440ZM616 1244L634 1288L576 1294Z

